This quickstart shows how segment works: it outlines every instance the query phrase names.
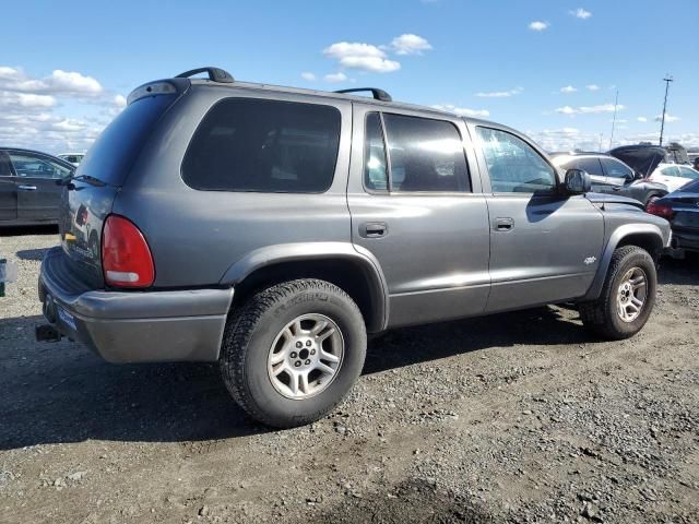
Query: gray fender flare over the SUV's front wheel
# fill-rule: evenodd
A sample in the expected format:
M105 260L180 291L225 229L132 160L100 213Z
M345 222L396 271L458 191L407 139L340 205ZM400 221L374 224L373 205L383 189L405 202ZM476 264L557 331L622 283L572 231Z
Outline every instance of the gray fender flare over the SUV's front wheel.
M614 251L624 246L638 246L650 253L655 262L660 259L665 246L662 230L654 224L626 224L614 230L602 253L597 273L583 300L594 300L600 297L604 281L609 270Z

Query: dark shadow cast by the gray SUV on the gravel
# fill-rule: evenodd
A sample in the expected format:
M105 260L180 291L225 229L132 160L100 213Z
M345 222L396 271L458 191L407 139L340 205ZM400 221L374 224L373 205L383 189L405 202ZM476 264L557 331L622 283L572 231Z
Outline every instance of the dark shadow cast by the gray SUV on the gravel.
M34 341L38 315L0 320L0 450L84 440L186 442L270 431L230 400L216 365L116 366L67 340ZM589 341L557 310L396 330L369 343L364 373L490 346Z

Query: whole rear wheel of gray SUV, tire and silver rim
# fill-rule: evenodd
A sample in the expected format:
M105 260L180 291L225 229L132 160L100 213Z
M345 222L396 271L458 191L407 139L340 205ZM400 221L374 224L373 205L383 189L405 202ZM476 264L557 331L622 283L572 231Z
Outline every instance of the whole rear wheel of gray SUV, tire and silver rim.
M362 312L346 293L298 279L256 294L232 315L220 365L252 418L288 428L318 420L344 398L366 345Z

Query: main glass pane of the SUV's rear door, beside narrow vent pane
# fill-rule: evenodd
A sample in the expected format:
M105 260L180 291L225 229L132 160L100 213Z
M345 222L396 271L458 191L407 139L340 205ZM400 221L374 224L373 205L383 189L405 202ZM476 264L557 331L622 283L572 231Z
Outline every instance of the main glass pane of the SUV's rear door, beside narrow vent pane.
M383 114L391 191L471 191L457 127L443 120Z

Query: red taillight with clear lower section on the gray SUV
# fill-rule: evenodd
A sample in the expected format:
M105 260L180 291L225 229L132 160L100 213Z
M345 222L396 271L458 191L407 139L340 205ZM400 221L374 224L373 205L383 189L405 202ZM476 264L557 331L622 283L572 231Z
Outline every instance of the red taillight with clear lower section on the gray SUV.
M102 270L114 287L149 287L155 279L153 257L143 234L119 215L109 215L102 233Z

